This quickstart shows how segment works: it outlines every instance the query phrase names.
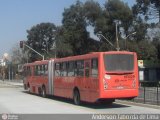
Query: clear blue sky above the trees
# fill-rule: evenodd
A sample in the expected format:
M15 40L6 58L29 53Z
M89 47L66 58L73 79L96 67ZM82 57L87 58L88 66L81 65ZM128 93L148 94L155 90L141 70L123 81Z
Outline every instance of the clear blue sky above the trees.
M85 2L86 0L80 0ZM101 6L106 0L95 0ZM135 0L123 0L132 6ZM76 0L0 0L0 58L27 39L26 30L42 22L61 25L64 8ZM17 46L19 47L19 46Z

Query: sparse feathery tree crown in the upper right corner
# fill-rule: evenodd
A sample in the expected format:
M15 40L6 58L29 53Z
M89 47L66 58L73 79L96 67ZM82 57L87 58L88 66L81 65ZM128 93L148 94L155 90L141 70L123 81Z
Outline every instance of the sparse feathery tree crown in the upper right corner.
M159 0L136 0L133 7L135 14L142 14L146 20L157 19L160 22L160 1Z

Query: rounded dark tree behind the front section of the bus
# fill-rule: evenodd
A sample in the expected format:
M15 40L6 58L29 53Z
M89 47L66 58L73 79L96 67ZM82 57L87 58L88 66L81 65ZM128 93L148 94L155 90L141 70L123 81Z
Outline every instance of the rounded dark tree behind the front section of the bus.
M40 23L33 26L30 30L27 30L27 44L40 52L45 54L51 54L51 48L55 41L56 26L53 23ZM31 61L41 59L36 53L30 51Z

